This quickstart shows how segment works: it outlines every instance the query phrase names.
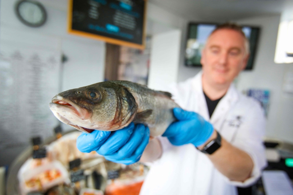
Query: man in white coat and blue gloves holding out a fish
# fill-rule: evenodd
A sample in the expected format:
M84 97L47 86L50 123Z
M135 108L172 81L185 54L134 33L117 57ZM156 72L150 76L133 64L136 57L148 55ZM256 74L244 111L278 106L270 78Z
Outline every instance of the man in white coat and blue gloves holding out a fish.
M241 27L218 26L203 49L202 72L169 90L182 109L173 110L178 121L163 136L147 143L149 129L130 124L110 136L82 134L78 148L117 163L153 162L142 195L237 194L266 165L262 109L231 84L248 58Z

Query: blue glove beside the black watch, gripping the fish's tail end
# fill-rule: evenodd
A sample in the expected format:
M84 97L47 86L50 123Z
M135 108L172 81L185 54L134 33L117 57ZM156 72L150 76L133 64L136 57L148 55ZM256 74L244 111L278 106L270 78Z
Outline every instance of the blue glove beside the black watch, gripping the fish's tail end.
M212 136L214 127L199 114L181 108L174 108L173 113L178 121L173 122L162 135L166 136L173 145L192 143L197 147Z

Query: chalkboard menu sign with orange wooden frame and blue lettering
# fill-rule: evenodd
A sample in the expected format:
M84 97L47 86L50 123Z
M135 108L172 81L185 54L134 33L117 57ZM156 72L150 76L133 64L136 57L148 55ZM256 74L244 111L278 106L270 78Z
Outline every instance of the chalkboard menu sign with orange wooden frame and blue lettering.
M70 0L68 32L144 49L147 0Z

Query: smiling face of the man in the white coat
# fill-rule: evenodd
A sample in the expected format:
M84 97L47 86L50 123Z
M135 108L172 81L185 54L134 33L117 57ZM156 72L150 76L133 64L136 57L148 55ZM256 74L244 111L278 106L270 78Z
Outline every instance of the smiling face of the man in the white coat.
M221 29L207 40L200 62L209 81L230 84L245 69L248 58L244 37L235 30Z

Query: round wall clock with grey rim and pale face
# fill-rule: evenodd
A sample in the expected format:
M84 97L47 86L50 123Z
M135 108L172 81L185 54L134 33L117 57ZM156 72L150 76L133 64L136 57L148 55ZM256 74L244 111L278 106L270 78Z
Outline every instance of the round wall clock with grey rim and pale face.
M31 27L43 25L47 18L42 4L30 0L19 1L16 5L16 14L21 22Z

